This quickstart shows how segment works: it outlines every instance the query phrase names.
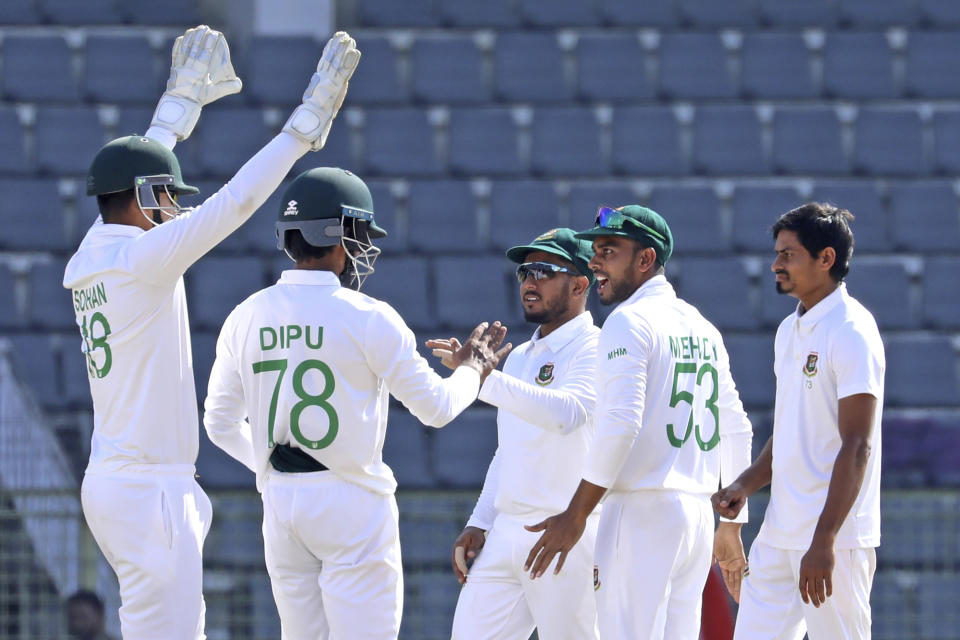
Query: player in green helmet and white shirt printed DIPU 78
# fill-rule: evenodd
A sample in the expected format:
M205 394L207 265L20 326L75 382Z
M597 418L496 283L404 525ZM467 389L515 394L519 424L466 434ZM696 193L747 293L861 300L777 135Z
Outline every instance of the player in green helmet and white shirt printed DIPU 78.
M510 345L483 323L437 375L390 305L360 291L386 235L363 180L312 169L284 193L277 246L296 263L223 323L204 426L256 473L282 635L394 639L403 609L388 396L443 427ZM349 286L343 286L349 285Z

